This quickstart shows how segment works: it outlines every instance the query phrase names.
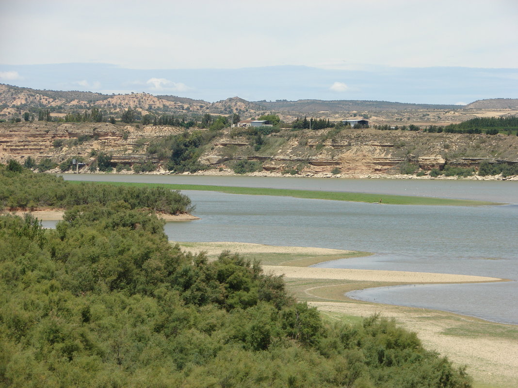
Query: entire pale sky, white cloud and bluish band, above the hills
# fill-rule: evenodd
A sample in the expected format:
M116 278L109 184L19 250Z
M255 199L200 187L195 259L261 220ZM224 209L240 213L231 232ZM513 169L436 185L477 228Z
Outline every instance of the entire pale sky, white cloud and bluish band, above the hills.
M419 77L424 78L426 69L466 68L470 74L470 69L485 69L518 86L516 0L2 0L0 37L0 82L18 86L57 88L45 83L43 74L38 79L35 72L41 65L50 66L45 67L48 77L54 65L92 64L92 69L99 69L94 65L109 64L113 74L116 69L128 70L124 74L129 78L109 83L102 81L111 78L108 70L96 77L84 66L80 66L83 72L65 71L69 78L61 82L63 67L54 66L50 78L56 86L79 90L125 93L134 89L196 98L206 93L204 99L209 100L231 97L225 94L232 92L255 99L357 99L365 94L360 92L368 91L367 99L407 96L420 101L402 102L443 98L443 103L455 103L457 96L467 100L518 97L509 95L505 87L499 93L491 82L487 88L481 84L474 92L459 91L451 98L427 96L426 87L411 88L415 78L400 78L405 69L413 77L420 69ZM243 69L262 69L261 79L269 73L285 77L284 71L272 69L290 66L327 72L329 77L320 89L311 87L316 81L305 79L311 77L308 70L293 85L296 93L290 93L290 87L270 87L266 93L261 84L233 81L233 74L241 77ZM77 66L71 68L79 71ZM216 69L236 72L225 72L226 79L219 84L207 82ZM498 69L507 69L502 70L506 75ZM204 83L192 78L188 83L189 77L182 74L189 71ZM378 85L355 83L358 72L379 80L391 71L403 81L397 86L400 90L386 82L384 86L379 81ZM443 79L445 83L472 80L457 70L453 73ZM144 74L149 78L136 78ZM436 79L430 79L433 85ZM272 81L275 85L283 79Z

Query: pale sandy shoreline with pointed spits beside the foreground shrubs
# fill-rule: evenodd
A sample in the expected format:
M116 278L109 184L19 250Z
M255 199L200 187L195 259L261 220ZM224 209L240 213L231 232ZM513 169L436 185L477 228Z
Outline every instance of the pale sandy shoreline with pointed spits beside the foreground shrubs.
M355 317L381 314L394 318L418 334L425 348L448 356L458 366L467 366L474 387L515 388L518 386L518 326L488 322L452 312L385 305L348 299L353 289L412 283L462 283L502 281L486 276L404 271L351 270L285 265L300 256L320 256L320 261L347 257L352 251L325 248L284 247L263 244L214 242L178 243L192 253L206 252L209 260L223 250L244 258L278 255L276 263L263 265L265 273L284 275L286 289L297 300L306 301L332 321L351 322Z

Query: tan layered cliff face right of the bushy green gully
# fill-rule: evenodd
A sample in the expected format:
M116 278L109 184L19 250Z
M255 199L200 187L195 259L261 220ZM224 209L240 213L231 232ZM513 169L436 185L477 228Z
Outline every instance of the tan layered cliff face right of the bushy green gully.
M246 138L220 140L200 161L214 167L238 160L259 161L272 172L325 173L338 168L349 175L398 173L405 162L425 171L447 162L458 167L478 167L483 160L518 162L516 136L374 129L346 129L330 139L328 134L325 129L298 131L296 138L285 140L279 133L255 153ZM275 143L278 146L272 147Z

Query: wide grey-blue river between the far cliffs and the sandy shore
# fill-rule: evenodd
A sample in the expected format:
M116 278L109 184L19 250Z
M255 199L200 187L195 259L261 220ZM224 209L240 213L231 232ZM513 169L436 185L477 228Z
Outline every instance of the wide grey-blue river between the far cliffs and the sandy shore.
M316 266L439 272L512 281L367 289L356 299L518 324L518 182L63 174L66 180L205 184L506 202L500 206L372 205L184 191L200 220L169 222L174 241L236 241L374 252Z

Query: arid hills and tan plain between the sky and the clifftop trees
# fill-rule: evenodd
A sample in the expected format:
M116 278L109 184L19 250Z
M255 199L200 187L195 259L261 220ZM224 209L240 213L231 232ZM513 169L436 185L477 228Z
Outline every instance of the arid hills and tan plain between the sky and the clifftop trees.
M289 123L297 117L326 118L340 121L362 116L371 125L448 125L474 117L503 117L518 114L518 99L479 100L467 106L400 103L364 100L297 100L247 101L231 97L216 102L148 93L111 94L48 91L0 84L0 121L21 120L25 113L38 117L42 109L50 111L52 120L64 120L66 114L99 109L108 117L120 120L128 108L134 110L137 120L152 116L175 115L184 120L197 120L204 114L232 115L257 118L264 114L278 114Z

